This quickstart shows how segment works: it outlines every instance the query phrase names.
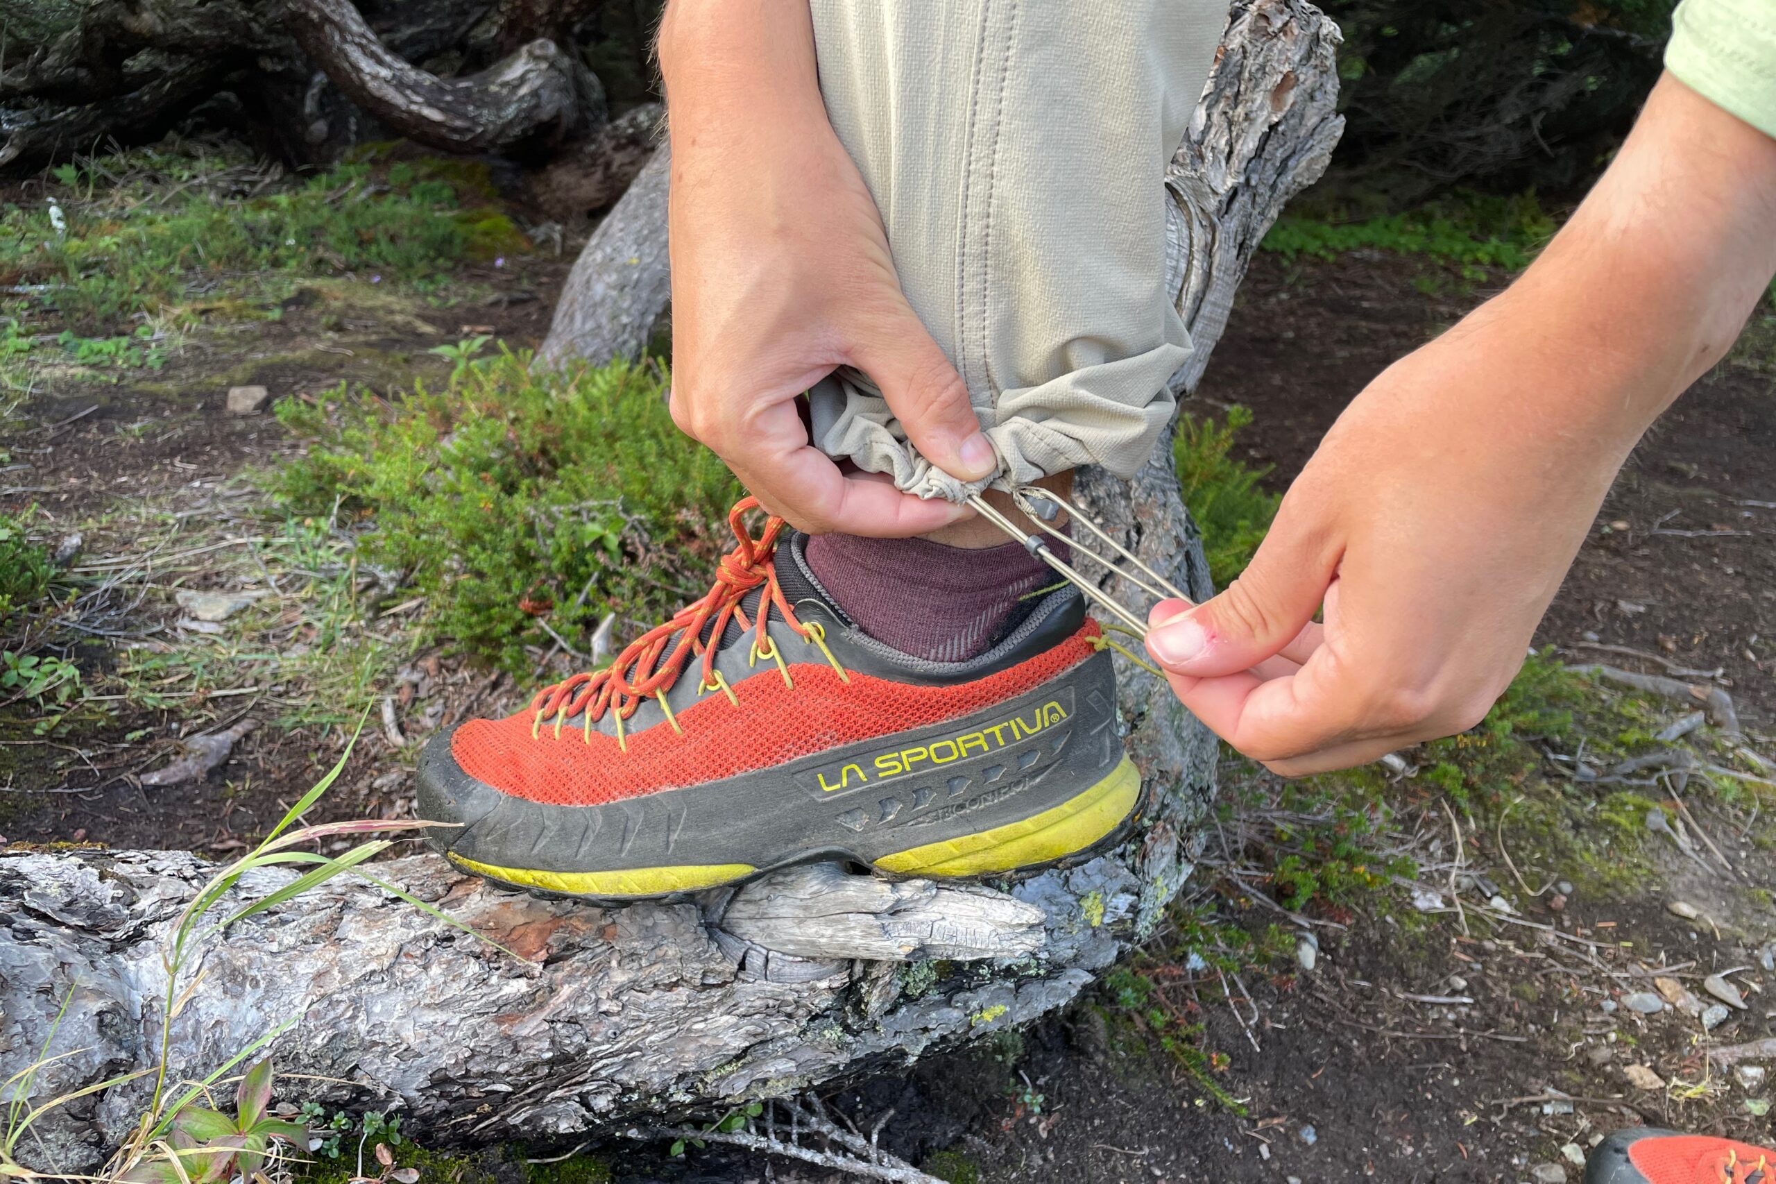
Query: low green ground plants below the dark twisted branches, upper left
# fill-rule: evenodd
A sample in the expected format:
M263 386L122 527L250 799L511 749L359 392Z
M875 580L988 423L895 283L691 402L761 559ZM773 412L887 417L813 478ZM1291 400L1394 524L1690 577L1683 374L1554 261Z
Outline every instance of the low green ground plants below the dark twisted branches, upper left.
M131 316L281 299L295 277L437 283L464 258L527 249L456 162L364 158L266 180L238 153L137 149L62 165L44 199L0 206L0 311L59 316L64 348L135 348ZM92 341L99 345L92 345Z

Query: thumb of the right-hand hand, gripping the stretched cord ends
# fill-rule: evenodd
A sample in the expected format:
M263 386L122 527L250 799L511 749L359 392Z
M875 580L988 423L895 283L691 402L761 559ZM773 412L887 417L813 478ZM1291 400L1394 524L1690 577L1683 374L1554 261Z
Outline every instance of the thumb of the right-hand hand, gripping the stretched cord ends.
M1284 507L1288 508L1288 507ZM1312 620L1337 556L1295 537L1279 516L1252 562L1220 596L1197 608L1154 606L1147 652L1172 674L1220 677L1275 658Z

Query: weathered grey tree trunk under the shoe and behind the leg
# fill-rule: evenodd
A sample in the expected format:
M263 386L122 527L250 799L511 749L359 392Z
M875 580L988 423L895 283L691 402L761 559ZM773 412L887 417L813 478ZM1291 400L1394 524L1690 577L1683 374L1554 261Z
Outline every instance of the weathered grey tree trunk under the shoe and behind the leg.
M1197 343L1177 379L1186 389L1252 245L1325 167L1336 41L1304 0L1234 5L1172 171L1170 249L1190 256L1181 308ZM661 153L613 212L616 228L588 245L551 356L567 343L600 357L639 348L666 300L664 185ZM600 316L604 300L620 311ZM1169 437L1133 482L1085 471L1078 496L1174 583L1211 592ZM549 1140L781 1097L1028 1024L1153 932L1213 800L1215 738L1158 679L1128 663L1119 679L1151 807L1137 834L1082 866L987 885L819 866L687 903L590 907L506 894L414 855L378 871L529 962L382 889L334 882L211 942L204 981L172 1020L172 1068L197 1076L297 1020L277 1042L279 1068L353 1084L291 1079L291 1095L398 1109L403 1132L432 1143ZM188 853L0 855L0 1070L67 1052L34 1079L32 1100L153 1063L160 942L206 875ZM256 873L243 891L284 880ZM91 1168L144 1093L133 1083L57 1108L21 1152Z

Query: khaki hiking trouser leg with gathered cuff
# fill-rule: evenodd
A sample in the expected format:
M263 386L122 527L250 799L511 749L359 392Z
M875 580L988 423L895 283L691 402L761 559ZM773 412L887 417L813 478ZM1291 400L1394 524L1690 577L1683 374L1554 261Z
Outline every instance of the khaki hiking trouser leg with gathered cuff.
M1190 354L1165 165L1225 0L812 0L821 91L900 284L1028 482L1146 462ZM918 496L975 487L911 452L867 377L810 393L813 441Z

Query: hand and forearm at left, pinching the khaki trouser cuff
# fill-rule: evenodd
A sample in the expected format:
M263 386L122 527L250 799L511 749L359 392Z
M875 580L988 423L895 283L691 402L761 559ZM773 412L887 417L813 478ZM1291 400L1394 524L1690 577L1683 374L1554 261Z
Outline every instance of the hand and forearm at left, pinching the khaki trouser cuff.
M995 468L968 388L906 302L876 201L826 117L806 0L675 0L659 53L673 420L808 532L918 535L970 514L840 473L796 405L856 366L932 464L961 480Z

